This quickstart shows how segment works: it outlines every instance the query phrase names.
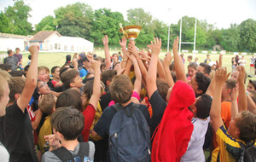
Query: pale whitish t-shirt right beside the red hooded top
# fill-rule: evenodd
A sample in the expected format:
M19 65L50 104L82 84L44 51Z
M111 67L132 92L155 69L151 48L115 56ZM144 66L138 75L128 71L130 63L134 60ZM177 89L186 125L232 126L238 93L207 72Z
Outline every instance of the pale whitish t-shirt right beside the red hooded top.
M205 136L207 133L208 123L210 117L206 120L193 118L192 123L194 125L194 130L189 141L187 152L181 158L183 162L201 162L206 161L205 154L203 151L203 145L205 142Z

